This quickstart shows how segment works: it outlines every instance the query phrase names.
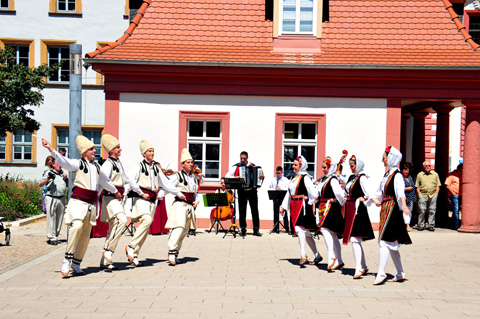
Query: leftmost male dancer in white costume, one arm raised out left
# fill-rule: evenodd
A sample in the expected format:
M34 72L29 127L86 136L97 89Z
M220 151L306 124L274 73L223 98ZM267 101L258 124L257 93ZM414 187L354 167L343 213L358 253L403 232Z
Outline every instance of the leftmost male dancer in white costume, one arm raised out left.
M77 136L76 142L80 154L94 147L92 141L82 135ZM100 166L97 163L88 162L84 158L68 159L57 151L52 151L52 156L63 169L73 172L72 195L65 214L65 224L70 227L62 275L68 276L70 264L77 274L84 274L80 269L80 263L90 242L92 225L96 225L98 186L101 185L111 193L116 193L117 189L110 179L100 172Z

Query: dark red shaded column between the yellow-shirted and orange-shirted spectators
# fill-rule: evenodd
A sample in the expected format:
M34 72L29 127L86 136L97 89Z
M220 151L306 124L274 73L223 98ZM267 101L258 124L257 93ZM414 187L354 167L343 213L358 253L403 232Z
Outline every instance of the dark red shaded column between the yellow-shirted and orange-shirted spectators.
M435 172L437 172L442 185L448 175L448 159L450 151L450 112L453 107L436 106L433 108L437 112L437 133L435 142ZM448 220L448 195L445 186L440 188L437 199L437 211L435 213L435 225L440 227L450 227Z

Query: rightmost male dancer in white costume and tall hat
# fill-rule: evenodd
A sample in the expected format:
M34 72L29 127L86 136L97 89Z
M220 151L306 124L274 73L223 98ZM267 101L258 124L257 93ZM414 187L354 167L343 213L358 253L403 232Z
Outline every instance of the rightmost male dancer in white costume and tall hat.
M192 159L188 150L183 149L180 159L181 163ZM186 200L182 200L180 196L176 196L172 207L167 211L168 220L165 228L170 229L170 236L168 237L168 260L170 264L175 265L179 263L177 259L178 253L182 248L183 240L188 230L196 229L195 209L193 205L196 202L198 180L193 172L187 174L185 170L181 170L170 176L170 180L178 191L186 197Z

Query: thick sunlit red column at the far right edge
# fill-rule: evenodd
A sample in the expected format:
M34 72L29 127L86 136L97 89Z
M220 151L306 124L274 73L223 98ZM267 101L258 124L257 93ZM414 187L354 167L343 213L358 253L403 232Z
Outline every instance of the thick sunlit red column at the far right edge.
M462 176L462 226L458 231L480 232L480 101L463 101L467 110Z

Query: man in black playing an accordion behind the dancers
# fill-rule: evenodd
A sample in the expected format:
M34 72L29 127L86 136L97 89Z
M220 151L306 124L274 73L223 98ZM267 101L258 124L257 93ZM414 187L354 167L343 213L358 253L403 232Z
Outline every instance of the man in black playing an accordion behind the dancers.
M243 151L240 153L240 163L237 163L232 166L230 171L225 175L225 177L240 177L240 167L246 166L246 170L250 171L253 169L255 164L248 162L248 153ZM263 173L260 174L260 179L263 179ZM252 221L253 221L253 235L262 236L260 234L260 219L258 216L258 195L257 188L245 188L238 190L238 204L240 211L240 228L242 236L245 236L247 233L247 202L250 202L250 210L252 211Z

